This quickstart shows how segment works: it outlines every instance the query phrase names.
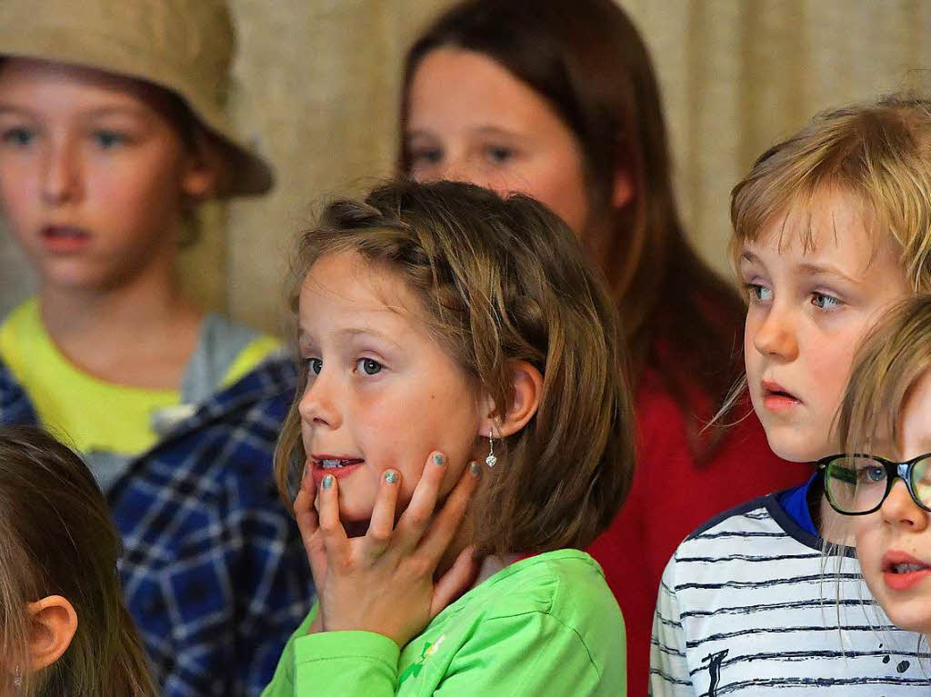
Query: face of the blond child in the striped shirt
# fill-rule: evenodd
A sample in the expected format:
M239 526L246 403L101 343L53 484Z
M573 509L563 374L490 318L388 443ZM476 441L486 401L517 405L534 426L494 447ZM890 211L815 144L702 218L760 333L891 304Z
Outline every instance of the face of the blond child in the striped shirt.
M749 395L770 448L793 462L830 455L857 344L884 307L911 293L894 244L875 243L855 199L825 192L810 210L767 223L739 264Z

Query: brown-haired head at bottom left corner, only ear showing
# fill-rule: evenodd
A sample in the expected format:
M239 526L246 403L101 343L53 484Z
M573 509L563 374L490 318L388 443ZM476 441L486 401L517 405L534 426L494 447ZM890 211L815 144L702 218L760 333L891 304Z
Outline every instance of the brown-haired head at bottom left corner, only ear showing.
M155 694L120 551L84 463L38 429L0 429L0 695Z

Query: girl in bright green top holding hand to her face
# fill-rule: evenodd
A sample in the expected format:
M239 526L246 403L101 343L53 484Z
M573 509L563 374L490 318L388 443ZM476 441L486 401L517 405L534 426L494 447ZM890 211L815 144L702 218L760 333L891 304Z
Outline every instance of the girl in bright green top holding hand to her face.
M581 551L630 486L623 343L572 232L524 196L388 184L327 208L295 270L277 468L305 471L320 602L265 694L626 694Z

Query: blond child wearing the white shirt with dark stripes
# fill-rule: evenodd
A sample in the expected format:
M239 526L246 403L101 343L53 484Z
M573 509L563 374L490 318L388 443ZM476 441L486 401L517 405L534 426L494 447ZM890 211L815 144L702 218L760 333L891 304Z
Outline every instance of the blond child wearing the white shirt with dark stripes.
M821 114L734 189L747 389L780 457L838 452L857 343L891 303L931 289L929 154L931 105L894 97ZM926 693L918 637L867 621L851 551L839 602L825 592L825 538L843 542L843 525L815 475L681 543L656 602L653 694Z

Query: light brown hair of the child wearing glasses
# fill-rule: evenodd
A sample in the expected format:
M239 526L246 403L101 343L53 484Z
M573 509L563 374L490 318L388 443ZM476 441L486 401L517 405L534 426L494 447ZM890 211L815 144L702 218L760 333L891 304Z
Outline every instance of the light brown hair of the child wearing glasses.
M844 450L870 452L877 440L897 443L902 407L929 369L931 296L919 295L884 315L857 349L837 414Z

